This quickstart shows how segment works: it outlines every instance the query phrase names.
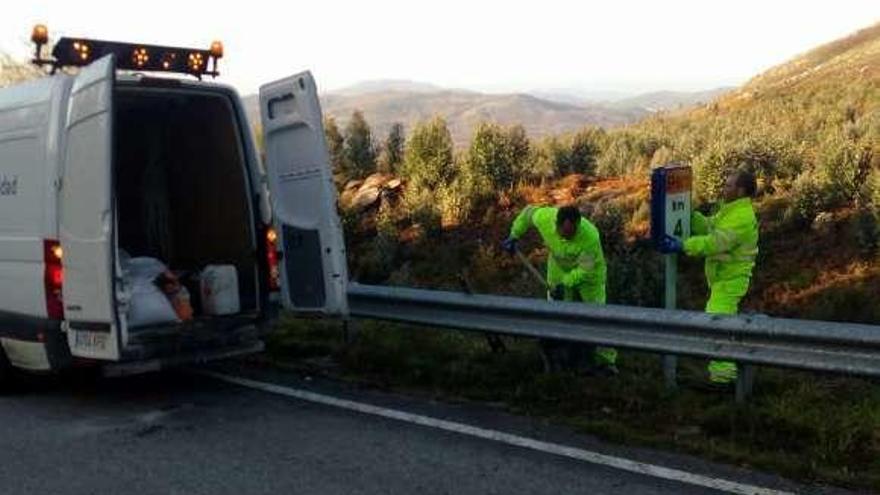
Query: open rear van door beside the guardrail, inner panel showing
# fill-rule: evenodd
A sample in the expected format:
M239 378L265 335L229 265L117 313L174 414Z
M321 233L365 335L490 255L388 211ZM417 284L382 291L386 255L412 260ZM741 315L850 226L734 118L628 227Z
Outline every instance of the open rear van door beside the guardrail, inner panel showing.
M308 72L260 88L269 191L282 251L282 299L305 313L348 314L348 273L315 81Z

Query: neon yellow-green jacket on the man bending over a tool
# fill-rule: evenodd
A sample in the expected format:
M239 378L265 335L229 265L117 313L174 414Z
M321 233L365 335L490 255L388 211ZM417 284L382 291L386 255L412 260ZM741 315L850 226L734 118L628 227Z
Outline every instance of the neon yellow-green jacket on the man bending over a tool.
M556 230L557 211L549 206L527 206L514 219L510 236L519 239L534 227L549 251L547 285L565 286L566 299L577 291L584 302L604 304L607 268L599 230L581 218L574 237L565 239Z

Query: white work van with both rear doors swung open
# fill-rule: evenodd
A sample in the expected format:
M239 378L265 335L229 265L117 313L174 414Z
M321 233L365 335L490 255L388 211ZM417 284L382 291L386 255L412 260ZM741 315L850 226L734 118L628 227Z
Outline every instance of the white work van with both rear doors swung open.
M75 76L0 89L0 384L13 367L124 373L258 351L279 300L345 315L312 76L260 88L264 173L231 87L117 77L118 53L91 54ZM127 256L232 265L240 310L135 328Z

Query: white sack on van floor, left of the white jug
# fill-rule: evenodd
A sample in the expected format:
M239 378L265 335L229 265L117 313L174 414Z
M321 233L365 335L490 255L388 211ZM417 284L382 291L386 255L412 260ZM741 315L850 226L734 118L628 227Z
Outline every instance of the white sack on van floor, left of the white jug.
M167 268L155 258L122 260L122 271L129 288L128 326L131 328L162 323L179 323L180 319L165 294L153 280Z

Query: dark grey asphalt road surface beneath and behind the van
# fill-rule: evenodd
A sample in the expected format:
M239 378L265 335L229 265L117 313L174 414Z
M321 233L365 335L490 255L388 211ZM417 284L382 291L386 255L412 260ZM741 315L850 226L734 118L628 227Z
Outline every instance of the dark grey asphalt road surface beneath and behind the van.
M474 406L294 375L261 379L549 440L568 438ZM717 493L190 372L32 380L26 392L0 397L0 425L4 494ZM681 468L680 459L671 462ZM692 462L703 474L711 469ZM721 474L730 479L742 473ZM800 491L770 477L757 481Z

